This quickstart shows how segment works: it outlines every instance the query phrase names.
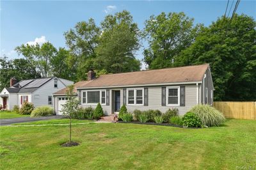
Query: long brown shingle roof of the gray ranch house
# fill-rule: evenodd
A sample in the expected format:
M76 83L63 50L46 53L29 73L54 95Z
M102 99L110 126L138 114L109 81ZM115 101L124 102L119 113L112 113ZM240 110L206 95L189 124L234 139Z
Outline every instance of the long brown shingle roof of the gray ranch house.
M176 68L164 68L159 70L100 75L100 77L97 79L78 84L77 88L196 82L202 81L208 67L209 64L204 64Z

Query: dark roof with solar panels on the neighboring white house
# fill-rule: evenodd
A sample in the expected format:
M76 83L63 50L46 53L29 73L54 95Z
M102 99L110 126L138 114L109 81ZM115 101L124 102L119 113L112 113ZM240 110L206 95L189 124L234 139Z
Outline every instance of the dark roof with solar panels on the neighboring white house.
M32 93L36 89L43 86L46 82L56 77L40 78L40 79L28 79L22 80L14 84L10 88L6 88L9 93Z

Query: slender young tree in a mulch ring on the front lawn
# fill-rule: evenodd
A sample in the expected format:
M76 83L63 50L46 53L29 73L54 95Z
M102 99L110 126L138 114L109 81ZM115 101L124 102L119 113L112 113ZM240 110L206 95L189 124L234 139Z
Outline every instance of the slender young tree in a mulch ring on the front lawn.
M68 116L70 119L70 125L69 125L69 143L71 143L71 125L72 125L72 114L76 114L76 111L78 109L79 101L76 98L76 95L74 93L74 85L68 86L68 89L66 91L67 95L67 102L63 104L63 107L61 109L61 112L63 112L64 115Z

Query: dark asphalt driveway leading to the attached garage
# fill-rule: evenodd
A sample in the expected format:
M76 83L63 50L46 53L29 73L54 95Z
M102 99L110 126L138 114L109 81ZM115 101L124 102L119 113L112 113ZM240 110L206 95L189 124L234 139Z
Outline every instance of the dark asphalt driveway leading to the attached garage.
M3 120L0 120L0 126L11 125L13 123L24 123L24 122L38 121L38 120L56 120L56 119L62 119L62 118L64 118L64 116L44 116L44 117L38 117L38 118L23 117L23 118L3 119Z

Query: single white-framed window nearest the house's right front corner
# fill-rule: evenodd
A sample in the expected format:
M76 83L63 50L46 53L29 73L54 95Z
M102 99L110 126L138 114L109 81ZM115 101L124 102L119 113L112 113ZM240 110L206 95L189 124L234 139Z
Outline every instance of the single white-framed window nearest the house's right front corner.
M168 105L180 105L180 88L168 87L167 89L167 104Z

